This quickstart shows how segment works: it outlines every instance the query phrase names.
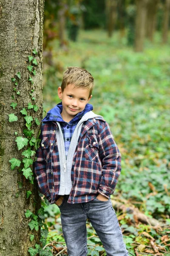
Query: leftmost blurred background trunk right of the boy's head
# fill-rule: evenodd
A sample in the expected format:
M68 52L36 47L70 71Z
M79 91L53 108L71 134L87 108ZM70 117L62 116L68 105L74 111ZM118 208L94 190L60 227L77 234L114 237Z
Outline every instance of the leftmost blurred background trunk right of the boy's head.
M116 0L106 0L106 17L107 17L107 28L108 37L111 38L116 22Z

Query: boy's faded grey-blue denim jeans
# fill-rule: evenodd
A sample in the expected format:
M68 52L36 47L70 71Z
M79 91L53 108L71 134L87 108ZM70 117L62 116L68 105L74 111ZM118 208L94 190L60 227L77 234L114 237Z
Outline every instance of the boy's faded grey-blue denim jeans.
M111 200L93 201L82 204L68 204L64 196L59 206L61 212L62 232L69 256L86 256L87 230L86 221L90 220L101 240L108 256L127 256L122 231Z

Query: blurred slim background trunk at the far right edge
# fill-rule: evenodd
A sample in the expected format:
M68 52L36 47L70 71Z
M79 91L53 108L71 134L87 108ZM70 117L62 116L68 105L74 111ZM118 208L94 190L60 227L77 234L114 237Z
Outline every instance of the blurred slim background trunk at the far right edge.
M169 20L170 20L170 0L166 0L164 5L164 20L163 20L163 35L162 35L163 44L167 43Z

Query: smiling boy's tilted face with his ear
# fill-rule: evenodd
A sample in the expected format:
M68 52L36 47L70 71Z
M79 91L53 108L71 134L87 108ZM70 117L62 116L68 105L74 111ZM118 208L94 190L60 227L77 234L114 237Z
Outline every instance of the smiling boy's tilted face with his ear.
M74 87L74 84L68 84L62 92L61 87L58 88L59 99L62 100L62 119L70 122L79 112L85 109L85 105L89 102L89 90L82 87Z

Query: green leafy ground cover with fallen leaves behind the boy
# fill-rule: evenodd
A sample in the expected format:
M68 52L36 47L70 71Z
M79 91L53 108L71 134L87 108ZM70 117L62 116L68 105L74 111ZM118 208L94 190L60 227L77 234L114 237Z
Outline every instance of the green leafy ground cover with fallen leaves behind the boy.
M117 32L107 38L102 31L80 32L79 40L59 49L51 44L53 66L44 64L44 108L59 102L57 87L67 66L81 66L95 78L91 103L108 121L122 153L122 173L113 199L137 207L159 225L141 223L127 211L117 216L130 255L170 255L170 52L160 44L145 42L135 53ZM56 205L45 208L49 227L45 247L53 255L67 255ZM88 222L88 255L105 255Z

